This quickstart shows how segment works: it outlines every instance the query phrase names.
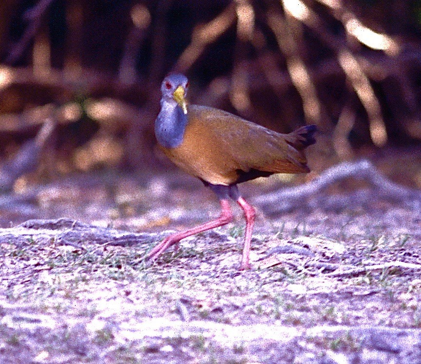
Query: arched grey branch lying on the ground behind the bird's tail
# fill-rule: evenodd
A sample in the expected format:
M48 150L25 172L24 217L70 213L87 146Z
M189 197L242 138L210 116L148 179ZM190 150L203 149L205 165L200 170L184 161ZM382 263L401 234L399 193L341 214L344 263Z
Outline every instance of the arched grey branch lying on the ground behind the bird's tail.
M255 202L269 214L290 211L297 207L308 206L310 197L325 190L333 183L349 177L368 181L379 190L379 196L411 202L421 201L420 191L389 181L370 161L363 159L357 162L341 163L325 170L311 182L259 196Z

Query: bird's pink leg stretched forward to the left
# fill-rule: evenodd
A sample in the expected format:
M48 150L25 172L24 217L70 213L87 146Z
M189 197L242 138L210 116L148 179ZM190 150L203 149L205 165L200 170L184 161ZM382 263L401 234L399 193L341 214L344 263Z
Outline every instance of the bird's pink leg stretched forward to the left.
M173 244L178 243L181 239L187 238L188 236L197 234L202 231L210 230L213 228L217 228L218 226L223 226L232 221L232 212L230 209L230 203L228 200L220 200L219 203L221 204L221 215L216 219L207 222L206 224L196 226L195 228L177 232L173 235L168 236L164 239L161 243L159 243L155 248L153 248L148 255L146 255L146 259L154 261L161 253L166 250L167 248L171 247Z

